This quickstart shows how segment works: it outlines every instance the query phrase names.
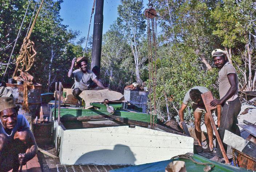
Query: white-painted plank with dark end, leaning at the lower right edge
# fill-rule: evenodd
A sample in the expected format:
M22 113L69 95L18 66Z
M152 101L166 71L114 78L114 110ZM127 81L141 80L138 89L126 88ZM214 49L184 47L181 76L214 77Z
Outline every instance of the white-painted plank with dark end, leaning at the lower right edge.
M227 145L235 148L236 150L242 152L245 155L256 160L256 144L246 140L228 130L225 130L225 135L223 142Z

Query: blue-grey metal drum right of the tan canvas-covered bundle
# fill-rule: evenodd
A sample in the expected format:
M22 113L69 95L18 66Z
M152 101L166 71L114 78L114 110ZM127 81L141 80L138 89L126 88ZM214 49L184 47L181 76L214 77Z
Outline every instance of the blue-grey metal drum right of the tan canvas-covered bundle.
M142 112L147 110L148 91L137 91L124 89L124 100L130 101L136 106L142 108Z

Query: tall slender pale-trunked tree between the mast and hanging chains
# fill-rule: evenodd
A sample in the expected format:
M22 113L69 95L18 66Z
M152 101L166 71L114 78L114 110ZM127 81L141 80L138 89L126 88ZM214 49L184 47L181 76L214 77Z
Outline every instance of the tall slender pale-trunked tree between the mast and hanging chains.
M141 83L141 68L144 67L146 56L141 55L141 47L145 37L145 17L142 13L143 0L121 0L117 7L119 17L117 25L130 46L135 63L136 82Z

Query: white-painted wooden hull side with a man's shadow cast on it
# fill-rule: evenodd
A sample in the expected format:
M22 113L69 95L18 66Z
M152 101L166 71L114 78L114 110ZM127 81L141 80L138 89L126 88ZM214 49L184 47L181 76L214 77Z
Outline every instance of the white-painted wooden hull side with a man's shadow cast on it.
M60 162L67 165L140 165L193 152L193 138L136 126L70 129L55 122Z

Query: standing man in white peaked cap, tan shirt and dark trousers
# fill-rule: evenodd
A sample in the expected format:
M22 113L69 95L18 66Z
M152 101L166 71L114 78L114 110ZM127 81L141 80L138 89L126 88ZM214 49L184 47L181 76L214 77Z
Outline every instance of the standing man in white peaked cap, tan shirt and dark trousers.
M240 135L236 125L237 116L241 110L241 102L238 97L238 79L236 69L228 62L227 51L215 49L212 51L214 64L219 71L219 95L220 100L211 101L211 106L222 105L219 134L221 140L224 138L225 130ZM225 151L227 144L223 143ZM212 160L220 161L222 158L220 147L217 146L216 154Z

